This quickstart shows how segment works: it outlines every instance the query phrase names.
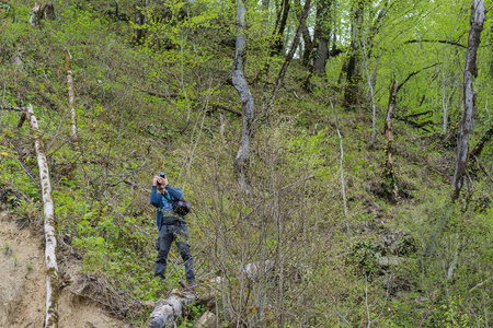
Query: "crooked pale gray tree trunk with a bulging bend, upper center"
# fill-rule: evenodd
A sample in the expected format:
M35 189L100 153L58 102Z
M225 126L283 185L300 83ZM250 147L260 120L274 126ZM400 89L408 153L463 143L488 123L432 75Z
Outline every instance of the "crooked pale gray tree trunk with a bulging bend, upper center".
M240 95L241 110L243 113L243 126L241 129L241 144L234 159L234 171L239 177L240 186L246 187L245 165L250 160L250 138L253 134L254 103L249 83L244 78L244 51L245 51L245 7L243 0L237 0L237 49L232 67L232 83Z

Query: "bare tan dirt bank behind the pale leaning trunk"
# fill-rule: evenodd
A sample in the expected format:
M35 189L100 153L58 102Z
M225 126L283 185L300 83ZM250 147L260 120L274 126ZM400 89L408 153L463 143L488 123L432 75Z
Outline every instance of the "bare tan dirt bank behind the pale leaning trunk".
M43 327L46 267L41 239L30 229L19 230L7 212L0 212L0 328ZM73 277L74 267L58 261L60 277ZM98 303L77 295L68 281L60 291L59 327L129 326L106 316Z

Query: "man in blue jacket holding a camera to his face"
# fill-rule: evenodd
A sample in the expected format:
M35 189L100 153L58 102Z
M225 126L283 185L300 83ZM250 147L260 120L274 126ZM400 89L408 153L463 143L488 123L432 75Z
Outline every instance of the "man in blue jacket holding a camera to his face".
M185 262L185 276L188 286L195 285L194 260L187 244L190 234L183 215L173 211L173 202L183 200L183 191L180 187L172 188L168 184L168 178L163 172L154 176L152 180L152 190L150 203L158 208L157 224L159 237L156 246L158 248L158 258L156 259L156 277L164 280L167 271L167 259L170 253L171 243L175 242L180 255Z

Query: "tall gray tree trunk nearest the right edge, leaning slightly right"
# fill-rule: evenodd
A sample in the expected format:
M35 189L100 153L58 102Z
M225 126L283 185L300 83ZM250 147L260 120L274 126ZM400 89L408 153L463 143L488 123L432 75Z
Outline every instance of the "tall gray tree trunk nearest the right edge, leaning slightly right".
M469 132L472 126L472 116L475 104L475 92L472 81L478 77L475 65L478 47L481 43L481 32L483 31L485 8L484 0L472 0L471 23L469 28L468 51L466 55L466 68L463 72L463 116L460 126L460 134L457 144L456 171L452 178L452 202L459 198L462 188L463 174L466 172L469 153Z

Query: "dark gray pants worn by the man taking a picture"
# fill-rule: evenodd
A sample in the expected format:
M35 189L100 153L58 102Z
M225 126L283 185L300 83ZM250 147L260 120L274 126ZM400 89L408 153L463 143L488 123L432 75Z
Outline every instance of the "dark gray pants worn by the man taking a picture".
M161 226L159 237L156 243L156 248L158 249L158 258L156 259L156 277L164 279L168 254L171 249L171 243L174 241L180 250L180 255L185 262L186 280L191 281L195 279L194 259L192 258L192 253L190 250L188 237L188 227L186 227L185 223L175 223Z

